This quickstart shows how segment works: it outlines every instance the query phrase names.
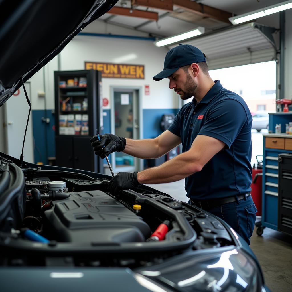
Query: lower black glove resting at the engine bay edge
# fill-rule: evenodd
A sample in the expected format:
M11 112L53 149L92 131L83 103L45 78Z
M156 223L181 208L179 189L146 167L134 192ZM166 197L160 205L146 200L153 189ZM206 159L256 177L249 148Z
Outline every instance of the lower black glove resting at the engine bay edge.
M137 179L138 171L134 172L119 172L109 181L109 190L112 194L120 190L128 190L133 187L138 187L140 183Z

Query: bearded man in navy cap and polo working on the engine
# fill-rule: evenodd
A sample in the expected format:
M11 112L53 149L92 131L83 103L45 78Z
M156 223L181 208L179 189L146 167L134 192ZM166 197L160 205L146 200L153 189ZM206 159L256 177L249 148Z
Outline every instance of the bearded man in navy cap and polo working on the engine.
M111 192L185 178L189 204L225 220L250 244L257 209L250 194L252 117L246 103L211 79L205 54L191 45L168 51L163 71L153 79L166 77L181 99L193 97L168 130L154 139L104 134L100 142L95 136L90 142L101 158L114 151L158 158L180 143L183 153L157 167L118 173L110 180Z

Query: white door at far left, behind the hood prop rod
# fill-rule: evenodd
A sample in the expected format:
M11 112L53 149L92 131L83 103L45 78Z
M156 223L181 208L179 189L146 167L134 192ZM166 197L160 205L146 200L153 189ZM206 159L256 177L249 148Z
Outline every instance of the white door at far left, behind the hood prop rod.
M25 83L25 89L29 100L31 100L29 82ZM23 137L29 112L29 106L23 88L20 87L5 102L4 106L7 154L19 158L22 151ZM23 160L34 163L33 151L32 112L30 112L23 150Z

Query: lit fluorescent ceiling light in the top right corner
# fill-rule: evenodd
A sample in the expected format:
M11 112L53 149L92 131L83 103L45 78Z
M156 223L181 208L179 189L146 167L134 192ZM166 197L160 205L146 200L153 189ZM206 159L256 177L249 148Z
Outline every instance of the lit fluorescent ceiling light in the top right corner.
M266 15L270 15L279 11L292 8L292 0L284 1L279 4L271 5L262 9L258 9L249 13L230 17L229 20L232 24L239 24L256 18L260 18Z

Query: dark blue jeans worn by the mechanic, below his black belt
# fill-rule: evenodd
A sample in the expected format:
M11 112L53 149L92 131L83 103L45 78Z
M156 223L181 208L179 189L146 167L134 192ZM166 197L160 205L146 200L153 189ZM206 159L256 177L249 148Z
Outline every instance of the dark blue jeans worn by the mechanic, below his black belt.
M250 196L243 200L224 204L206 210L209 213L224 220L229 224L247 243L250 244L250 237L256 222L256 206Z

